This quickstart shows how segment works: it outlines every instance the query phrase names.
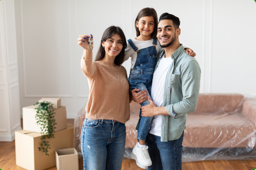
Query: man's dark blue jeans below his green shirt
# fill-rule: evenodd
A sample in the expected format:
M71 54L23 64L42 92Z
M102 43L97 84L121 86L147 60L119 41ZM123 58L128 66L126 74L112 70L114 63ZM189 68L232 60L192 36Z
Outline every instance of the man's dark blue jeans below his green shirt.
M146 145L152 160L147 170L181 170L181 150L184 131L179 139L161 142L161 137L148 133Z

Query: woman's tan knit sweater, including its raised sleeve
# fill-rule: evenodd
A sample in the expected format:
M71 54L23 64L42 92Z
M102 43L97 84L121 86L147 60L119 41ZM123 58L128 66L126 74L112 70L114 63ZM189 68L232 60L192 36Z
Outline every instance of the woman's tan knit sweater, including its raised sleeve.
M81 69L90 87L86 118L107 119L125 123L130 119L129 83L123 66L112 69L92 61L92 51L84 50ZM130 97L129 97L130 96Z

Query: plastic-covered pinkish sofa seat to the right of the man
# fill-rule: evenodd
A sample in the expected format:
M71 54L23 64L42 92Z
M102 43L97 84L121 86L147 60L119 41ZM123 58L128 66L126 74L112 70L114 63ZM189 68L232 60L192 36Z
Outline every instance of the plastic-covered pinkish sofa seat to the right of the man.
M241 114L188 114L184 147L254 147L255 125Z

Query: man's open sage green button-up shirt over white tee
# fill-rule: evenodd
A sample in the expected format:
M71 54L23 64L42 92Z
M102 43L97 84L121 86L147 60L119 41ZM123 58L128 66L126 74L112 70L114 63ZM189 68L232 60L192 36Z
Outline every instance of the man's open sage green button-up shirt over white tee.
M163 55L164 50L157 56L155 71ZM180 138L186 128L187 114L196 111L200 89L200 66L186 53L182 44L172 54L172 60L164 82L162 106L166 106L170 116L162 115L162 142Z

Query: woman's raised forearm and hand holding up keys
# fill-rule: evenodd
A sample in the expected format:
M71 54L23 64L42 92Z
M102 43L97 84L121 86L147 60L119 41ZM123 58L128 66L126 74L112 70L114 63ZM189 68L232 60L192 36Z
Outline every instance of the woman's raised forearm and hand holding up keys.
M95 72L94 64L92 63L92 49L93 43L91 45L91 51L89 50L88 39L93 39L92 35L80 35L77 39L78 44L84 48L83 57L81 59L81 69L86 77L93 77Z

